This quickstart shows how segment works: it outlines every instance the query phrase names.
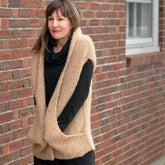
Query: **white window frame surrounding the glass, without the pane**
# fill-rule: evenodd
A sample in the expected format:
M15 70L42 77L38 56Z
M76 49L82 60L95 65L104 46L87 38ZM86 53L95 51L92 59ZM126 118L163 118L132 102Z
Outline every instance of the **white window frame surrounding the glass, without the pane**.
M158 42L159 30L159 1L158 0L126 0L126 2L146 2L152 1L152 38L127 39L126 55L151 53L160 51ZM127 12L128 18L128 12ZM128 21L127 21L128 22Z

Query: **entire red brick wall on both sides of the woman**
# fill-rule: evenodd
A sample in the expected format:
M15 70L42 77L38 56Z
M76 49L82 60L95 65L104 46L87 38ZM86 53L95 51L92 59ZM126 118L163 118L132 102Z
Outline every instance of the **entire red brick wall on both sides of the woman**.
M0 164L28 165L33 156L31 47L44 21L44 0L0 0ZM161 52L125 56L125 0L75 1L93 39L91 126L96 165L147 165L165 155L165 3L160 0Z

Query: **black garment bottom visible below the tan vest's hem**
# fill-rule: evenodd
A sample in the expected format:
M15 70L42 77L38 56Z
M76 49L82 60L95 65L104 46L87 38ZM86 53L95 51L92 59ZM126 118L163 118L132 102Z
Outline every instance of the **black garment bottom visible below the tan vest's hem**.
M54 159L53 161L50 161L34 157L34 165L95 165L95 153L92 150L86 153L83 157L69 160Z

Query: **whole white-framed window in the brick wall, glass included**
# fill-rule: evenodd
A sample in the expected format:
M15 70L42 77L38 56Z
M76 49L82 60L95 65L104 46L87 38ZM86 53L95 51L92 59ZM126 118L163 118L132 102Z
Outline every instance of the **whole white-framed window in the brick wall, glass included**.
M126 55L159 51L158 0L126 2Z

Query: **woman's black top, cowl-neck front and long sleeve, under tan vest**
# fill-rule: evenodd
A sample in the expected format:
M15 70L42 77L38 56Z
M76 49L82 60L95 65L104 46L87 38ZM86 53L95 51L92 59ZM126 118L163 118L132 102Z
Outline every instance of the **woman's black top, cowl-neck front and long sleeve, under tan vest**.
M45 93L46 105L48 106L52 94L58 83L58 79L65 66L71 39L67 41L62 50L58 53L53 52L53 45L49 43L48 49L45 51L44 77L45 77ZM87 60L84 64L76 89L65 106L63 112L58 117L59 128L63 132L68 124L73 120L80 107L86 100L89 92L90 82L93 76L93 64L91 60Z

